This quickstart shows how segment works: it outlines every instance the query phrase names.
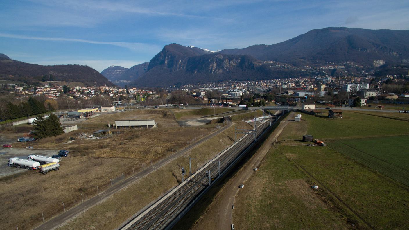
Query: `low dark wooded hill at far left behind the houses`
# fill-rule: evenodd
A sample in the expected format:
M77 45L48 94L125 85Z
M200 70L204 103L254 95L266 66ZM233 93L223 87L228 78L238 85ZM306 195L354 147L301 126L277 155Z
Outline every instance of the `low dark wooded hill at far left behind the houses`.
M85 86L114 86L87 65L36 65L15 61L0 54L0 80L36 84L40 81L82 82Z

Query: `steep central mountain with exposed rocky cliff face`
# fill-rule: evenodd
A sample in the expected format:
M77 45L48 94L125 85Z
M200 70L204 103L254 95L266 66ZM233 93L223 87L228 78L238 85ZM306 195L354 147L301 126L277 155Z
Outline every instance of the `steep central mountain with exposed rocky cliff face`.
M255 68L256 59L247 55L219 54L197 47L166 45L150 62L148 71L130 85L172 86L185 83L265 77ZM260 74L263 72L263 74Z

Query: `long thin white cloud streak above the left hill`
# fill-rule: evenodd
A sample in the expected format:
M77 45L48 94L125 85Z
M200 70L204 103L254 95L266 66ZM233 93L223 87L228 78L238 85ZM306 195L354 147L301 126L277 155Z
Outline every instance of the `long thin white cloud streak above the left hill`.
M39 41L69 41L69 42L82 42L82 43L91 43L91 44L115 45L119 47L128 48L129 50L134 50L134 51L143 50L143 51L151 52L151 51L161 49L161 47L157 45L151 45L151 44L146 44L146 43L92 41L92 40L75 39L75 38L47 38L47 37L24 36L24 35L7 34L7 33L0 33L0 37L39 40Z

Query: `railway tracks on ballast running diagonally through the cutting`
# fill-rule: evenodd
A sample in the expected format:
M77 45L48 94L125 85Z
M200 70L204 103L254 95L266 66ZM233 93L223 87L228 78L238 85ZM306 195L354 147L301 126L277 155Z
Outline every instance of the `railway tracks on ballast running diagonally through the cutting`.
M255 129L258 138L265 129L270 126L270 122L265 121ZM194 200L209 185L209 177L206 171L210 171L211 181L218 179L219 161L220 174L229 167L229 162L233 162L249 145L254 142L254 129L245 134L234 145L229 147L224 153L208 162L184 183L176 187L147 210L126 223L121 230L148 230L164 229L184 208Z

